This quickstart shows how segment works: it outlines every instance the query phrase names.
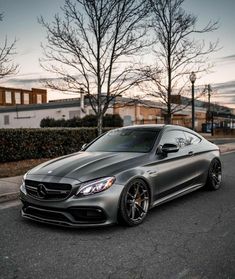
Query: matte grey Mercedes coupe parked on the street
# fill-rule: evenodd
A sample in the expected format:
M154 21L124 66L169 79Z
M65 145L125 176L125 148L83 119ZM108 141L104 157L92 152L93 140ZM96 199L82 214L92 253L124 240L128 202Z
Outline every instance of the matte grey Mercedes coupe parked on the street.
M124 127L26 173L22 216L68 227L135 226L159 204L220 185L219 148L198 133L175 125Z

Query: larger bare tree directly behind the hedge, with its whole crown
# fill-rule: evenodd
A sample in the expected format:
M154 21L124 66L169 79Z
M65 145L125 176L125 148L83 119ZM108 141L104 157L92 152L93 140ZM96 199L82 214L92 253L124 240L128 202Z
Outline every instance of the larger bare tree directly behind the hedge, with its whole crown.
M46 81L52 89L84 90L102 132L103 115L112 100L139 82L134 61L145 39L144 0L66 0L63 19L52 23L41 17L47 45L41 65L57 79Z

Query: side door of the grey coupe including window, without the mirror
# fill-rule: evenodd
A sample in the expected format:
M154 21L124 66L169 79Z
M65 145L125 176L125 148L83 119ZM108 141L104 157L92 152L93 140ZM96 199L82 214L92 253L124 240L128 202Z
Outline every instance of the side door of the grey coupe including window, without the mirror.
M177 145L179 150L174 153L157 154L154 199L163 198L192 185L193 150L186 146L184 132L177 129L166 130L162 134L159 146L166 143Z

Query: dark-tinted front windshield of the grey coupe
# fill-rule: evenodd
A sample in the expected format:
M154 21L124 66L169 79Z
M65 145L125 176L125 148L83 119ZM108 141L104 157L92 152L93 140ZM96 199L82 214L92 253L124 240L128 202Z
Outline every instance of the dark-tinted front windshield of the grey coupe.
M159 134L157 130L117 129L108 132L86 148L86 151L149 152Z

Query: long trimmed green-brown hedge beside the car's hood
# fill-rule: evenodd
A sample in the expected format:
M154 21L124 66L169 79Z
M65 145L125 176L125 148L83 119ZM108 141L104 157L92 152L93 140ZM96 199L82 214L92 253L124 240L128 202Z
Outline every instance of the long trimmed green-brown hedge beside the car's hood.
M96 128L0 129L0 162L66 155L96 137Z

